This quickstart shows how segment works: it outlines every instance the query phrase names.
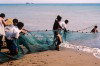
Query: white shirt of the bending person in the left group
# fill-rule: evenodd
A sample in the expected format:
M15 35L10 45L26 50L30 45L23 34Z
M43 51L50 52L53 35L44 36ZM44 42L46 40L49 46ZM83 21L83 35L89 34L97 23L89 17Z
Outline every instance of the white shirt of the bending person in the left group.
M14 25L5 27L6 38L9 40L13 40L13 38L18 38L20 32L21 31Z

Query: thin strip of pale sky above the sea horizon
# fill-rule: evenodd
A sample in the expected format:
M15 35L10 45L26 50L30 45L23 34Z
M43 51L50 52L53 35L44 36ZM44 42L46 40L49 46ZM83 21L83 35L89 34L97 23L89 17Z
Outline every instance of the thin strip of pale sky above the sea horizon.
M100 3L100 0L0 0L0 3Z

